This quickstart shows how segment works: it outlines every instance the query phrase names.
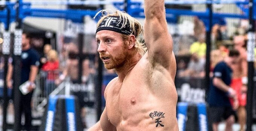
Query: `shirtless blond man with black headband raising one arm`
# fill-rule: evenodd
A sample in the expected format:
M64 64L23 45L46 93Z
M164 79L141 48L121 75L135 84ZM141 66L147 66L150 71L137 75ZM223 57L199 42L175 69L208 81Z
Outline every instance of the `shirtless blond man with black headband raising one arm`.
M98 52L105 68L114 69L118 77L107 85L106 107L88 131L178 131L176 61L164 3L145 0L148 51L139 39L143 34L139 21L120 11L101 11Z

